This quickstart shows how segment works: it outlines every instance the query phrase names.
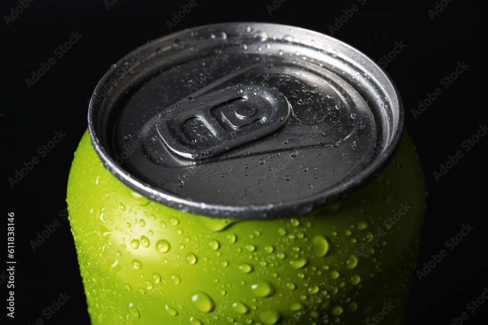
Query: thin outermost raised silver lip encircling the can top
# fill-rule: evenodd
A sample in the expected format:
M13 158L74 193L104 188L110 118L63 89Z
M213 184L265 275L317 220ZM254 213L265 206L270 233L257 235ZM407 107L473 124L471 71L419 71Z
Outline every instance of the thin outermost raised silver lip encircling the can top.
M395 100L398 102L398 110L399 110L398 120L394 125L394 127L396 127L396 130L390 135L390 140L387 143L386 147L381 148L380 156L374 159L372 163L370 163L361 172L362 176L359 180L353 179L351 184L348 184L345 191L342 191L339 194L337 194L334 193L334 188L329 188L325 191L321 191L310 196L302 197L301 199L298 199L294 202L280 201L274 204L253 205L253 204L247 204L245 200L242 200L242 202L239 205L233 205L233 206L219 205L219 204L198 202L191 198L181 197L175 193L164 191L163 189L156 189L150 184L141 181L136 176L125 171L122 168L122 166L117 164L116 161L105 150L101 142L100 137L102 136L102 132L99 129L100 126L98 126L97 124L98 121L96 115L96 113L98 113L97 108L99 108L101 102L97 102L96 96L101 91L104 83L112 75L113 69L109 69L102 76L97 86L95 87L95 90L90 98L89 108L88 108L88 130L91 138L91 143L96 153L98 154L99 158L101 159L105 169L111 172L117 179L119 179L123 184L125 184L132 190L146 196L150 200L156 201L170 208L181 210L183 212L190 212L194 214L206 215L211 217L258 219L258 218L268 218L268 217L279 217L288 214L305 214L320 206L334 203L350 195L351 193L357 191L359 188L363 187L366 182L369 182L373 177L379 174L386 167L386 164L391 159L392 155L394 154L394 152L398 147L398 144L400 142L400 137L404 127L405 112L404 112L404 106L403 106L403 102L399 90L396 84L392 81L390 75L386 73L386 71L384 71L383 68L381 68L373 59L371 59L369 56L364 54L362 51L359 51L356 48L353 48L352 46L348 45L347 43L337 38L328 36L326 34L312 31L306 28L301 28L301 27L296 27L291 25L274 24L274 23L229 22L229 23L207 24L207 25L197 26L194 28L171 33L161 38L157 38L151 42L148 42L136 48L135 50L131 51L126 56L122 57L115 65L112 66L112 68L114 66L120 66L128 58L136 55L137 53L140 53L141 50L143 50L144 48L150 46L155 42L162 42L165 40L178 38L178 35L186 34L188 33L188 31L194 29L219 28L219 26L224 26L228 24L233 24L233 25L259 24L263 26L280 26L283 28L293 28L293 29L305 31L306 33L315 34L321 38L328 38L329 40L333 40L338 44L341 44L342 46L359 54L362 58L368 61L368 64L372 64L375 69L377 69L386 77L386 80L389 83L388 86L392 88L393 94L396 96Z

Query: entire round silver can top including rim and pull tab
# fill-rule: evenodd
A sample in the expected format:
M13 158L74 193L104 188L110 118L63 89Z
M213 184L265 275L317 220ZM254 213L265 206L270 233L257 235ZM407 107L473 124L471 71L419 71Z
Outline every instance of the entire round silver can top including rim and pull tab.
M105 168L213 217L303 214L379 173L403 107L386 73L329 36L224 23L151 41L102 77L88 127Z

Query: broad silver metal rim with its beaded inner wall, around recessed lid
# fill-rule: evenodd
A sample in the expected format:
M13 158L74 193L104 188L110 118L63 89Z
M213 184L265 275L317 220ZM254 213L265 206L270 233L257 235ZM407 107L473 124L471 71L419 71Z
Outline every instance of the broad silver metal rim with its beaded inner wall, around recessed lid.
M344 64L347 67L347 63L350 64L353 62L352 56L354 56L358 62L361 60L361 64L354 66L354 69L366 72L368 78L370 76L370 81L368 84L366 84L364 89L359 91L359 94L366 97L367 105L372 107L372 109L377 109L377 106L379 106L378 102L381 102L381 105L383 106L383 102L381 101L383 97L379 98L378 96L380 95L376 94L387 94L387 97L385 97L387 100L385 102L390 104L389 110L381 111L386 114L385 116L378 116L378 114L374 114L374 119L379 127L378 133L382 137L380 145L378 146L379 148L375 149L378 156L371 159L371 163L360 172L358 177L351 178L350 182L348 183L343 182L344 186L340 189L340 191L337 191L337 187L329 188L326 191L321 191L310 196L304 196L294 201L281 201L274 202L272 204L259 205L223 205L193 200L188 197L175 195L169 191L158 189L151 184L141 181L135 175L124 170L122 166L117 163L113 154L110 154L109 151L106 150L106 147L108 147L111 141L113 141L111 139L112 134L107 132L107 125L110 123L110 119L113 118L113 116L111 116L114 114L112 110L113 107L116 106L118 98L120 98L123 94L130 92L148 77L149 74L147 73L147 69L148 67L151 67L151 60L155 57L155 55L152 54L151 56L148 56L147 53L153 53L155 51L157 52L157 49L163 47L164 45L166 47L168 44L174 45L175 40L186 39L189 37L189 35L193 35L195 33L208 36L211 31L224 31L227 37L232 37L234 35L238 35L239 33L239 35L243 35L244 31L247 31L250 26L252 26L252 32L245 34L245 37L249 39L266 37L273 38L275 40L280 40L281 38L281 40L283 40L287 38L290 31L294 31L295 37L293 40L288 38L285 40L286 42L306 45L307 47L316 50L318 53L320 53L323 49L320 42L335 44L334 50L319 54L324 58L335 57L335 60L333 60L334 64L341 64L342 62L342 66L339 66L339 64L337 66L332 64L327 66L329 70L331 67L334 67L336 70L333 72L335 73L344 68ZM266 33L263 31L266 31L268 34L266 35ZM270 36L270 31L275 34ZM296 35L299 35L300 37L297 37ZM313 41L310 42L307 38L313 38L315 40L315 44ZM144 55L141 55L142 51L145 51ZM182 60L184 60L184 57L182 57ZM132 63L132 66L125 70L121 70L122 67L128 65L127 63ZM175 62L174 64L177 63L178 62ZM121 71L123 73L120 73ZM158 73L157 69L152 69L150 72L153 75ZM355 89L358 88L360 82L359 79L360 77L358 76L358 84L353 85ZM352 79L346 77L346 81L351 82L352 80L354 80L354 77L352 77ZM364 80L363 83L365 83ZM107 85L109 86L107 87ZM368 93L370 92L370 94L366 95L366 91ZM103 93L105 93L105 95L102 95ZM378 102L374 101L375 98L379 98ZM176 32L148 42L147 44L123 57L115 65L113 65L107 73L105 73L94 90L88 109L88 129L93 148L100 157L104 167L123 184L150 200L177 210L181 210L183 212L190 212L211 217L239 219L263 219L287 214L305 214L317 207L334 203L337 200L348 196L352 192L357 191L366 182L370 181L379 172L381 172L381 170L386 166L387 162L398 146L402 134L403 123L403 104L396 85L391 81L386 72L378 66L377 63L362 52L340 40L307 29L287 25L250 22L205 25Z

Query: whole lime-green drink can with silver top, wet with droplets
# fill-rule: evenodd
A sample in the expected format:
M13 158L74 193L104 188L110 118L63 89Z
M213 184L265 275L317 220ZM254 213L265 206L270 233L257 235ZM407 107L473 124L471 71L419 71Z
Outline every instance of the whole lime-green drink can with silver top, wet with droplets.
M427 192L400 95L353 47L224 23L91 97L67 189L93 324L402 324Z

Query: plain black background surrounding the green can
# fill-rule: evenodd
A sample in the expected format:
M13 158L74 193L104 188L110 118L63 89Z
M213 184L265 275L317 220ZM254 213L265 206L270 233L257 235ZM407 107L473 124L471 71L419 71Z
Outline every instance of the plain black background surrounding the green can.
M110 1L110 0L108 0ZM6 324L88 324L85 296L73 237L63 218L70 164L87 128L87 99L112 63L151 39L203 24L227 21L259 21L295 25L331 35L329 25L353 4L359 10L338 30L336 37L378 61L403 42L406 47L386 72L403 97L406 127L417 146L426 174L427 212L417 270L431 254L446 249L445 242L469 223L474 229L422 278L414 276L406 324L451 324L453 317L468 313L464 324L486 324L488 301L473 314L467 304L488 286L487 278L487 144L488 136L466 151L463 141L479 125L488 122L486 92L486 5L474 1L447 0L431 19L435 1L312 1L286 0L268 13L273 0L200 1L171 32L166 20L188 1L41 1L15 18L11 8L19 1L4 0L0 6L1 33L1 218L0 242L7 243L7 212L15 212L15 320ZM27 0L25 0L27 3ZM317 1L319 2L319 1ZM339 3L337 3L339 2ZM366 2L364 5L361 3ZM108 4L109 5L107 8ZM20 10L19 10L20 11ZM16 17L15 14L12 17ZM58 58L53 51L71 37L82 35ZM38 82L27 87L41 63L55 57ZM445 89L440 80L454 72L458 62L466 71ZM414 118L411 110L427 93L441 88L425 112ZM40 157L38 148L52 140L56 131L66 134L51 152ZM438 181L448 156L458 150L464 157ZM8 182L23 162L38 156L40 162L12 188ZM61 213L61 214L60 214ZM35 240L45 225L60 226L35 250ZM6 269L7 252L0 258L0 274ZM3 261L3 262L1 262ZM7 273L7 272L5 272ZM7 281L0 278L4 294ZM42 310L66 292L70 298L49 320ZM1 305L6 302L3 300ZM5 306L1 309L6 313ZM4 315L2 315L3 317ZM386 320L384 321L386 324Z

